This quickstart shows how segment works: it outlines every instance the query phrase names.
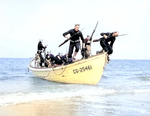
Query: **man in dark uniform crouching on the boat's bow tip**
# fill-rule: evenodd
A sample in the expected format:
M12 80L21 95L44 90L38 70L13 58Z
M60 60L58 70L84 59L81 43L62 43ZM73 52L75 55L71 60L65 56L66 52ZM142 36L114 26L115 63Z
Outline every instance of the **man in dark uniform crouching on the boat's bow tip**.
M116 37L119 35L119 32L100 33L100 35L103 36L103 38L100 38L100 45L102 46L103 50L105 50L108 55L112 54L113 44L116 40Z

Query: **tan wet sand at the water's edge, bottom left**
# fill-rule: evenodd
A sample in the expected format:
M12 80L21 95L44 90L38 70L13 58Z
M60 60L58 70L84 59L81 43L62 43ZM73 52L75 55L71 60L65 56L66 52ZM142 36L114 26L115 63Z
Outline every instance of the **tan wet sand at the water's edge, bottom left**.
M79 116L70 98L0 106L0 116Z

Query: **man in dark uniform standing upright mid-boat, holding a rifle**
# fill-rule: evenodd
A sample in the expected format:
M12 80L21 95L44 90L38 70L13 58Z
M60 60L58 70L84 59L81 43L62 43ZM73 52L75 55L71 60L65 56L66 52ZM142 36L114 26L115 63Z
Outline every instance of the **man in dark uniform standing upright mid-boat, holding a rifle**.
M63 36L65 38L70 39L69 52L68 52L69 61L71 61L71 59L72 59L74 47L76 49L75 49L75 52L73 55L73 60L76 60L76 55L80 48L80 39L82 40L83 48L85 48L84 38L83 38L82 32L79 30L79 27L80 27L79 24L75 24L74 29L71 29L71 30L63 33ZM69 37L68 34L70 34L71 37Z

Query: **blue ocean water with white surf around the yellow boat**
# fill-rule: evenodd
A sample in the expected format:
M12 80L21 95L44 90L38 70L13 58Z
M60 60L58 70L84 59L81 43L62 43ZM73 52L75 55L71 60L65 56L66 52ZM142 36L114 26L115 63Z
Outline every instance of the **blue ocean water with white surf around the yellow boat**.
M0 106L67 98L77 116L150 116L150 60L111 60L97 85L34 77L30 61L0 58Z

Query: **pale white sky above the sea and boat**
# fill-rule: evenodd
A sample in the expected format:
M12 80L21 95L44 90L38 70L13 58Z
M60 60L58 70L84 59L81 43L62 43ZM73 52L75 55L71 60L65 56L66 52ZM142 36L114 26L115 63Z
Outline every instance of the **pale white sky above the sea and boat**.
M30 58L40 39L52 54L66 54L69 42L58 47L62 34L80 24L84 38L119 31L111 59L150 60L150 0L0 0L0 58ZM101 50L91 44L92 55ZM80 52L77 55L81 57Z

